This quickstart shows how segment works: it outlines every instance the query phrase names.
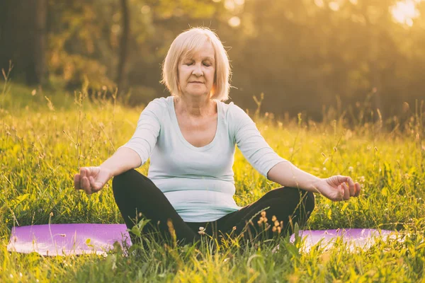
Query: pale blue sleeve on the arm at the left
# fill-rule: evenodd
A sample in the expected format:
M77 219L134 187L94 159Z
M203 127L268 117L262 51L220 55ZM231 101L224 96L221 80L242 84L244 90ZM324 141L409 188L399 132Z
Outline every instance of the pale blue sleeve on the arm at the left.
M135 133L131 139L121 147L128 147L139 154L140 166L145 164L151 155L161 129L162 105L159 100L152 100L140 114Z

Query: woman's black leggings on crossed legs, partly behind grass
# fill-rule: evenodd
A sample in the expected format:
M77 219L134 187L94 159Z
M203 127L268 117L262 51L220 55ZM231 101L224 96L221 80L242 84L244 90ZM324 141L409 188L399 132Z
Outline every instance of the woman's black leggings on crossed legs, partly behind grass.
M243 235L245 239L253 239L285 235L292 233L295 223L303 226L314 209L312 192L279 187L216 221L185 222L152 180L134 169L115 176L112 187L115 202L128 229L135 225L136 216L139 220L143 216L150 219L150 225L145 226L143 232L159 231L163 237L169 238L170 231L174 229L179 243L197 241L203 234L199 233L199 227L204 227L203 232L210 236ZM130 233L130 237L134 243L134 235Z

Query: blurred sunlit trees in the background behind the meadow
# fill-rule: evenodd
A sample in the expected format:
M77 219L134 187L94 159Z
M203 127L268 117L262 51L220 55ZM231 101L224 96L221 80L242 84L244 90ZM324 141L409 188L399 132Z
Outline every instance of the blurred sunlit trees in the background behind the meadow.
M227 47L245 109L263 93L278 116L390 120L425 98L424 0L1 0L0 67L28 86L118 87L139 105L169 95L166 51L198 25Z

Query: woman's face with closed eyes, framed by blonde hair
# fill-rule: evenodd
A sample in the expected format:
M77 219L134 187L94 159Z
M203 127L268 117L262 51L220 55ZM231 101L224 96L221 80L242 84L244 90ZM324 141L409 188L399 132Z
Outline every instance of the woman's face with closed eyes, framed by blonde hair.
M214 85L215 52L210 42L205 42L192 56L183 57L179 63L179 86L183 96L210 96Z

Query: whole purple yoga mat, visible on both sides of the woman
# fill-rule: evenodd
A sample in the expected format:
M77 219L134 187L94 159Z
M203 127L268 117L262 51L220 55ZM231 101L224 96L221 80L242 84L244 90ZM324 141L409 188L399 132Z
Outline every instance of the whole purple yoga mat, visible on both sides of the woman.
M18 253L40 253L40 255L81 255L97 253L104 255L113 248L113 243L126 243L130 237L125 224L50 224L13 227L7 249ZM337 237L348 243L350 248L368 248L376 237L386 237L392 231L375 229L301 230L300 236L308 251L320 243L330 247ZM88 241L90 239L90 241ZM290 241L295 241L291 236Z

